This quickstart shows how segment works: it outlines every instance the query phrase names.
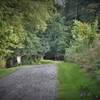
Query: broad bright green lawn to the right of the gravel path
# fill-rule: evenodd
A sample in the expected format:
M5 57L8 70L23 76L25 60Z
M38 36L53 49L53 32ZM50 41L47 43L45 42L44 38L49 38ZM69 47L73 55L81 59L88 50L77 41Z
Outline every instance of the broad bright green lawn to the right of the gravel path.
M100 93L100 86L96 84L79 65L72 63L59 63L58 76L59 89L57 100L94 100L93 94ZM90 96L80 97L80 86L86 86L90 90Z

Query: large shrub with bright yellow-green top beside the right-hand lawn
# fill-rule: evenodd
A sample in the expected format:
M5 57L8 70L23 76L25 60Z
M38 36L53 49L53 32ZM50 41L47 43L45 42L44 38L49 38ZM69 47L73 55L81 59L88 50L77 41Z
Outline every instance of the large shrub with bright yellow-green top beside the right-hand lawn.
M75 41L66 49L65 60L78 63L85 68L95 66L95 62L100 60L100 38L96 34L97 27L97 21L93 24L74 22L72 33Z

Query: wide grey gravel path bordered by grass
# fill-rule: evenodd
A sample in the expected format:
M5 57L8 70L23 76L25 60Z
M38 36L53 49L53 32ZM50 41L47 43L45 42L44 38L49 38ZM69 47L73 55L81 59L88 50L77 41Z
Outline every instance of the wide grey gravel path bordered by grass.
M56 92L53 64L21 67L0 79L0 100L55 100Z

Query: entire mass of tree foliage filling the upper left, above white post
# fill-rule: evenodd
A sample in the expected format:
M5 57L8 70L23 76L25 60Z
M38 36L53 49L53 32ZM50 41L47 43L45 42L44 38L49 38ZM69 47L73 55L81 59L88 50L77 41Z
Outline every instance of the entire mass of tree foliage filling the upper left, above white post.
M51 0L1 0L0 57L31 58L46 52L37 33L44 32L47 22L55 15Z

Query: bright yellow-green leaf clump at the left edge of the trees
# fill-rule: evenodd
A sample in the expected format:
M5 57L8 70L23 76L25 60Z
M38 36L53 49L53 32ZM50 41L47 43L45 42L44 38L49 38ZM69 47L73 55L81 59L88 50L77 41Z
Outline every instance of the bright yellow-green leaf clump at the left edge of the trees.
M12 52L10 48L21 47L23 41L23 33L15 31L14 27L6 23L0 22L0 56L5 57Z

